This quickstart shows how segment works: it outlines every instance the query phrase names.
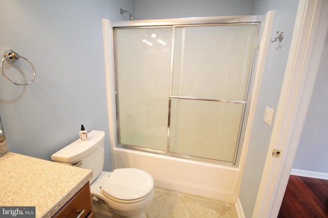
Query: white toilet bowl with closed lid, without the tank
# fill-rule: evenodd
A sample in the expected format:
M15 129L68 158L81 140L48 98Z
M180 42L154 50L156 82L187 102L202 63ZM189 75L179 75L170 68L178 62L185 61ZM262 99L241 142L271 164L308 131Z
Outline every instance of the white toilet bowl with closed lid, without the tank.
M123 217L146 218L145 210L153 201L154 188L153 179L145 173L135 168L101 172L90 185L95 212L110 217L107 210L110 208L109 212ZM140 182L144 183L140 185Z

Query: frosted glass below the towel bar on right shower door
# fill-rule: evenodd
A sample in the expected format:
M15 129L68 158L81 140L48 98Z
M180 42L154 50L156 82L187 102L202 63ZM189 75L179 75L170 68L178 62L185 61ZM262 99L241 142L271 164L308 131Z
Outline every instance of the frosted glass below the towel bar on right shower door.
M171 100L170 152L234 162L243 105Z

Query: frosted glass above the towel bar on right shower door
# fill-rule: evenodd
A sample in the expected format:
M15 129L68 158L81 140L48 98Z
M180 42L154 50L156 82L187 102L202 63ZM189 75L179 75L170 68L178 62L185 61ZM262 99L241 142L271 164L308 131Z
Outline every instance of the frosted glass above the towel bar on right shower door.
M256 25L175 28L172 95L244 101Z

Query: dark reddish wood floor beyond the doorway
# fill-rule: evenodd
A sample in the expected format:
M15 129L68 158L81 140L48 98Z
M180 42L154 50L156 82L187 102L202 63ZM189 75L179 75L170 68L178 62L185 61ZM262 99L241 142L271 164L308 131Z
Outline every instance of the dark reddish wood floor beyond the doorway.
M290 176L278 218L327 218L328 180Z

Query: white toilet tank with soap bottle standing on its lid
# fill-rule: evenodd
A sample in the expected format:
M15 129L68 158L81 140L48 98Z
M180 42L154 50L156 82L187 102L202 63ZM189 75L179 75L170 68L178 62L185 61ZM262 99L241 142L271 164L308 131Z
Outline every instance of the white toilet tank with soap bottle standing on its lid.
M93 130L88 133L88 139L85 142L77 139L51 155L51 159L58 163L90 169L93 175L91 184L104 168L105 132Z

